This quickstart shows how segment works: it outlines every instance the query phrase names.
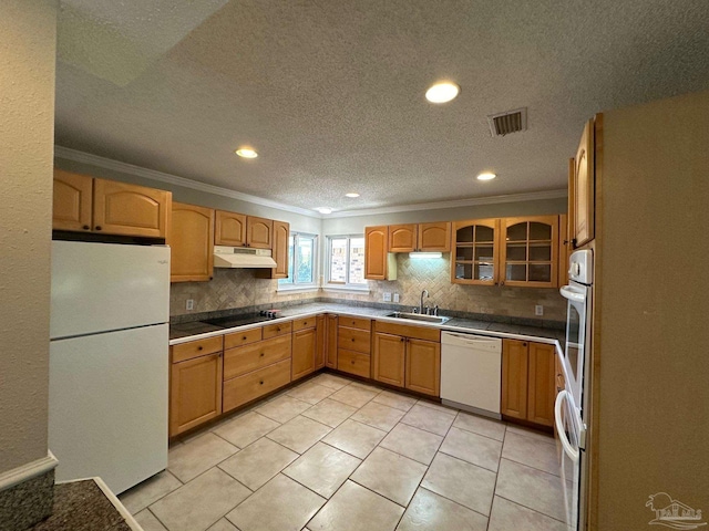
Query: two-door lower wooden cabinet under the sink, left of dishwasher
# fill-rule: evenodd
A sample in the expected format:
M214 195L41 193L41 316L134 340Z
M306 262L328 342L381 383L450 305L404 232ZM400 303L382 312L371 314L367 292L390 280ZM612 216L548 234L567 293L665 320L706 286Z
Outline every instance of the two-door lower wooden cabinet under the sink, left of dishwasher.
M440 396L441 332L379 321L374 323L374 331L372 377L397 387Z

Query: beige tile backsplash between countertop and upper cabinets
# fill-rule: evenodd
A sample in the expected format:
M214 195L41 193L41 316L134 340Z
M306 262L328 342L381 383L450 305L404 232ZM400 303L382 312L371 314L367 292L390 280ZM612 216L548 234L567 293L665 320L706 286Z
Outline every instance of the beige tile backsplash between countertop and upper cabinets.
M278 293L276 280L258 279L248 269L215 269L209 282L182 282L171 287L169 314L212 312L233 308L278 304L311 300L317 296L342 301L383 302L383 293L399 293L400 304L418 306L422 290L428 290L424 304L438 304L441 313L446 310L484 313L511 317L565 321L566 300L556 288L510 288L463 285L451 283L450 256L441 259L411 260L408 254L397 256L395 281L369 281L369 293L346 293L329 290L304 293ZM194 300L188 312L186 302ZM535 305L544 306L542 317L534 314Z

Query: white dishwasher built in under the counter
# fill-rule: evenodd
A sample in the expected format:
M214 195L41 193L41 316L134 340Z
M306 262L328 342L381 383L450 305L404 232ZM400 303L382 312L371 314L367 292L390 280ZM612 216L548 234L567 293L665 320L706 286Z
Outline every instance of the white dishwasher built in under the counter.
M443 404L502 418L502 340L460 332L441 333Z

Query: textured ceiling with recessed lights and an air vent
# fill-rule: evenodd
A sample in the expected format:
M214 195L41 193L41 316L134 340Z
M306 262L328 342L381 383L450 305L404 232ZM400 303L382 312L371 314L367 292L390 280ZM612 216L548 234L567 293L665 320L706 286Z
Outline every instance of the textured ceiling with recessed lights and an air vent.
M709 6L70 0L56 70L60 146L359 210L565 188L594 113L709 88ZM442 79L461 94L432 105ZM486 115L523 106L528 131L493 138Z

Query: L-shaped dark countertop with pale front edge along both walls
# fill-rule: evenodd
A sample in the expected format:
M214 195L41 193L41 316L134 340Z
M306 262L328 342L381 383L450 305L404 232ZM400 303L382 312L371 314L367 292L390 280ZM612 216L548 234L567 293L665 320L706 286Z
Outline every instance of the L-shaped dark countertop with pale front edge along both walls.
M273 322L282 322L285 320L297 317L297 316L315 315L317 313L325 313L325 312L337 313L340 315L366 316L371 319L391 320L392 322L399 322L399 323L402 322L402 320L399 320L399 319L387 317L387 315L392 312L391 309L350 305L350 304L331 303L331 302L325 302L325 303L316 302L316 303L300 304L300 305L285 308L280 312L279 319L273 320ZM237 312L235 312L235 314ZM224 312L219 312L219 315L223 315L223 314ZM202 319L209 319L209 316L202 316ZM556 341L562 343L565 337L565 331L558 327L558 323L553 323L555 325L554 327L543 327L543 326L530 326L525 324L515 324L515 323L496 322L496 321L483 321L479 319L465 319L465 317L454 316L444 324L432 324L432 323L424 323L424 322L415 322L410 324L415 324L417 326L433 326L440 330L450 330L450 331L467 332L467 333L481 333L485 335L495 335L500 337L521 339L521 340L535 340L535 339L540 340L541 339L541 340L547 340L548 342ZM183 343L185 341L189 341L191 339L209 337L209 336L218 335L220 333L233 332L236 330L247 330L247 329L263 326L263 325L264 323L255 323L255 324L239 326L235 329L223 329L223 327L214 326L201 321L181 322L178 324L171 324L169 340L171 340L171 344L177 344L177 343Z

